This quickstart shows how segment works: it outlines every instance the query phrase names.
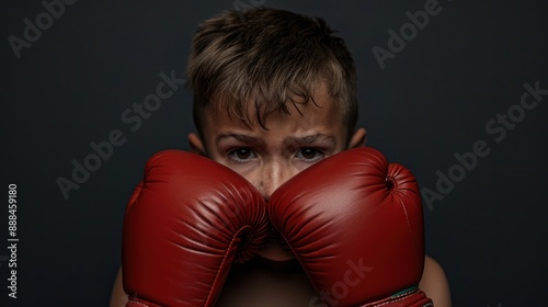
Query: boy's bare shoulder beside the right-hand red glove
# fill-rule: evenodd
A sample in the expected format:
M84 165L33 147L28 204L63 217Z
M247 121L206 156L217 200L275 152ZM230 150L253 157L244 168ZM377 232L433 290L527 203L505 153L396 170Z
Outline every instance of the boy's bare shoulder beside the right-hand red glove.
M424 272L419 286L432 299L434 306L452 306L449 283L445 271L437 261L429 255L424 258Z

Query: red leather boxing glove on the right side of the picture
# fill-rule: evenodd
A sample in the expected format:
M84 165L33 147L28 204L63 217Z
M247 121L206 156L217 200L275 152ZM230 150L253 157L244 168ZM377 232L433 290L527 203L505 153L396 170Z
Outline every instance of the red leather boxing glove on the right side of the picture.
M418 287L416 181L379 151L351 149L306 169L273 193L269 214L318 293L310 306L433 306Z

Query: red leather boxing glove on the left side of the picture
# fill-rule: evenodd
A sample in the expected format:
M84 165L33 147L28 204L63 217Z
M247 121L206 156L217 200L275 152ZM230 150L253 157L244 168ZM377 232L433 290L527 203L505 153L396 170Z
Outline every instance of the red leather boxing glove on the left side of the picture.
M253 257L269 227L264 198L232 170L155 155L124 218L126 306L214 306L230 265Z

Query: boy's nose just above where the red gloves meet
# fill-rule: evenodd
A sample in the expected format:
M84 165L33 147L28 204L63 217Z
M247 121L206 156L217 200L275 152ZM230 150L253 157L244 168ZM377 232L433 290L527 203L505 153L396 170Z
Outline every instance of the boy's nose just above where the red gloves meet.
M272 193L287 180L297 174L297 170L284 160L272 160L264 163L260 171L260 182L256 184L264 200L269 201Z

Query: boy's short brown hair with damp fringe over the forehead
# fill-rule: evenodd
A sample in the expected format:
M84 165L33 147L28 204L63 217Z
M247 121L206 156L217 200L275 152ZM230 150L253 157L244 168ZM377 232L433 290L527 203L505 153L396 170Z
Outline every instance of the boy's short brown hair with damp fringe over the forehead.
M357 122L352 54L321 18L271 8L225 11L195 32L187 78L198 134L212 103L266 129L270 114L289 114L288 102L316 104L311 93L320 82L339 104L349 137Z

